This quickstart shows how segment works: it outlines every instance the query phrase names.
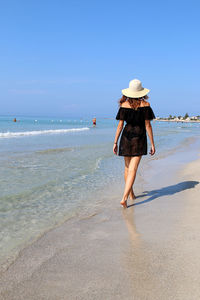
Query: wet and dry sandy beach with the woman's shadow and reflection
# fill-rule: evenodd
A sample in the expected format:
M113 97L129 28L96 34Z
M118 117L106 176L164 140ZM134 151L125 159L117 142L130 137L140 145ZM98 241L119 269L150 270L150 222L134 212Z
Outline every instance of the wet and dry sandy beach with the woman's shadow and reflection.
M140 172L128 209L114 194L21 251L1 274L1 299L200 299L198 147Z

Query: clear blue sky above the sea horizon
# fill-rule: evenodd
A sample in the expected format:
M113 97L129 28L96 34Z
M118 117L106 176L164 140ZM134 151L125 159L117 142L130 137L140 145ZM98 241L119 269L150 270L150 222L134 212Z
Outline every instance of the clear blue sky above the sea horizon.
M6 0L1 115L115 117L138 78L157 116L200 114L199 1Z

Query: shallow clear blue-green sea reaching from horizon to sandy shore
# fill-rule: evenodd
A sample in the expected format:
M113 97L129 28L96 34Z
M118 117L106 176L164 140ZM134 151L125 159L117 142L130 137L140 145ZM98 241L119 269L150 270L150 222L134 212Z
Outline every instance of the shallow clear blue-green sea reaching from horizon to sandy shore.
M93 127L91 119L0 117L0 271L51 228L91 215L111 195L119 205L124 160L112 151L117 124L115 118L97 118ZM152 127L156 154L144 156L143 166L199 138L200 123L152 121Z

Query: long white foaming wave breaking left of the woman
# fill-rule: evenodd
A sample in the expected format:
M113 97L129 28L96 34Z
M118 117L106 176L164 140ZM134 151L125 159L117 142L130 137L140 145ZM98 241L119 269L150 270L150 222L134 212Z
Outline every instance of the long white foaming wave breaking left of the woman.
M34 130L34 131L20 131L20 132L0 132L0 138L12 138L20 136L33 136L41 134L58 134L58 133L67 133L67 132L77 132L89 130L89 127L82 128L69 128L69 129L49 129L49 130Z

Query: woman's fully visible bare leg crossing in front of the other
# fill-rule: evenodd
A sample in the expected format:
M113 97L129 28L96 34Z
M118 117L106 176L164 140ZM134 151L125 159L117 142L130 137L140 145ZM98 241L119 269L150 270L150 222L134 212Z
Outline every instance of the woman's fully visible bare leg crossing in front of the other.
M125 188L124 188L124 195L123 195L122 201L120 202L124 207L127 207L126 201L128 199L128 195L129 195L130 190L135 181L135 177L136 177L136 173L137 173L137 169L138 169L140 160L141 160L141 156L133 156L130 159L129 167L128 167L128 174L127 174L127 178L126 178L126 184L125 184Z

